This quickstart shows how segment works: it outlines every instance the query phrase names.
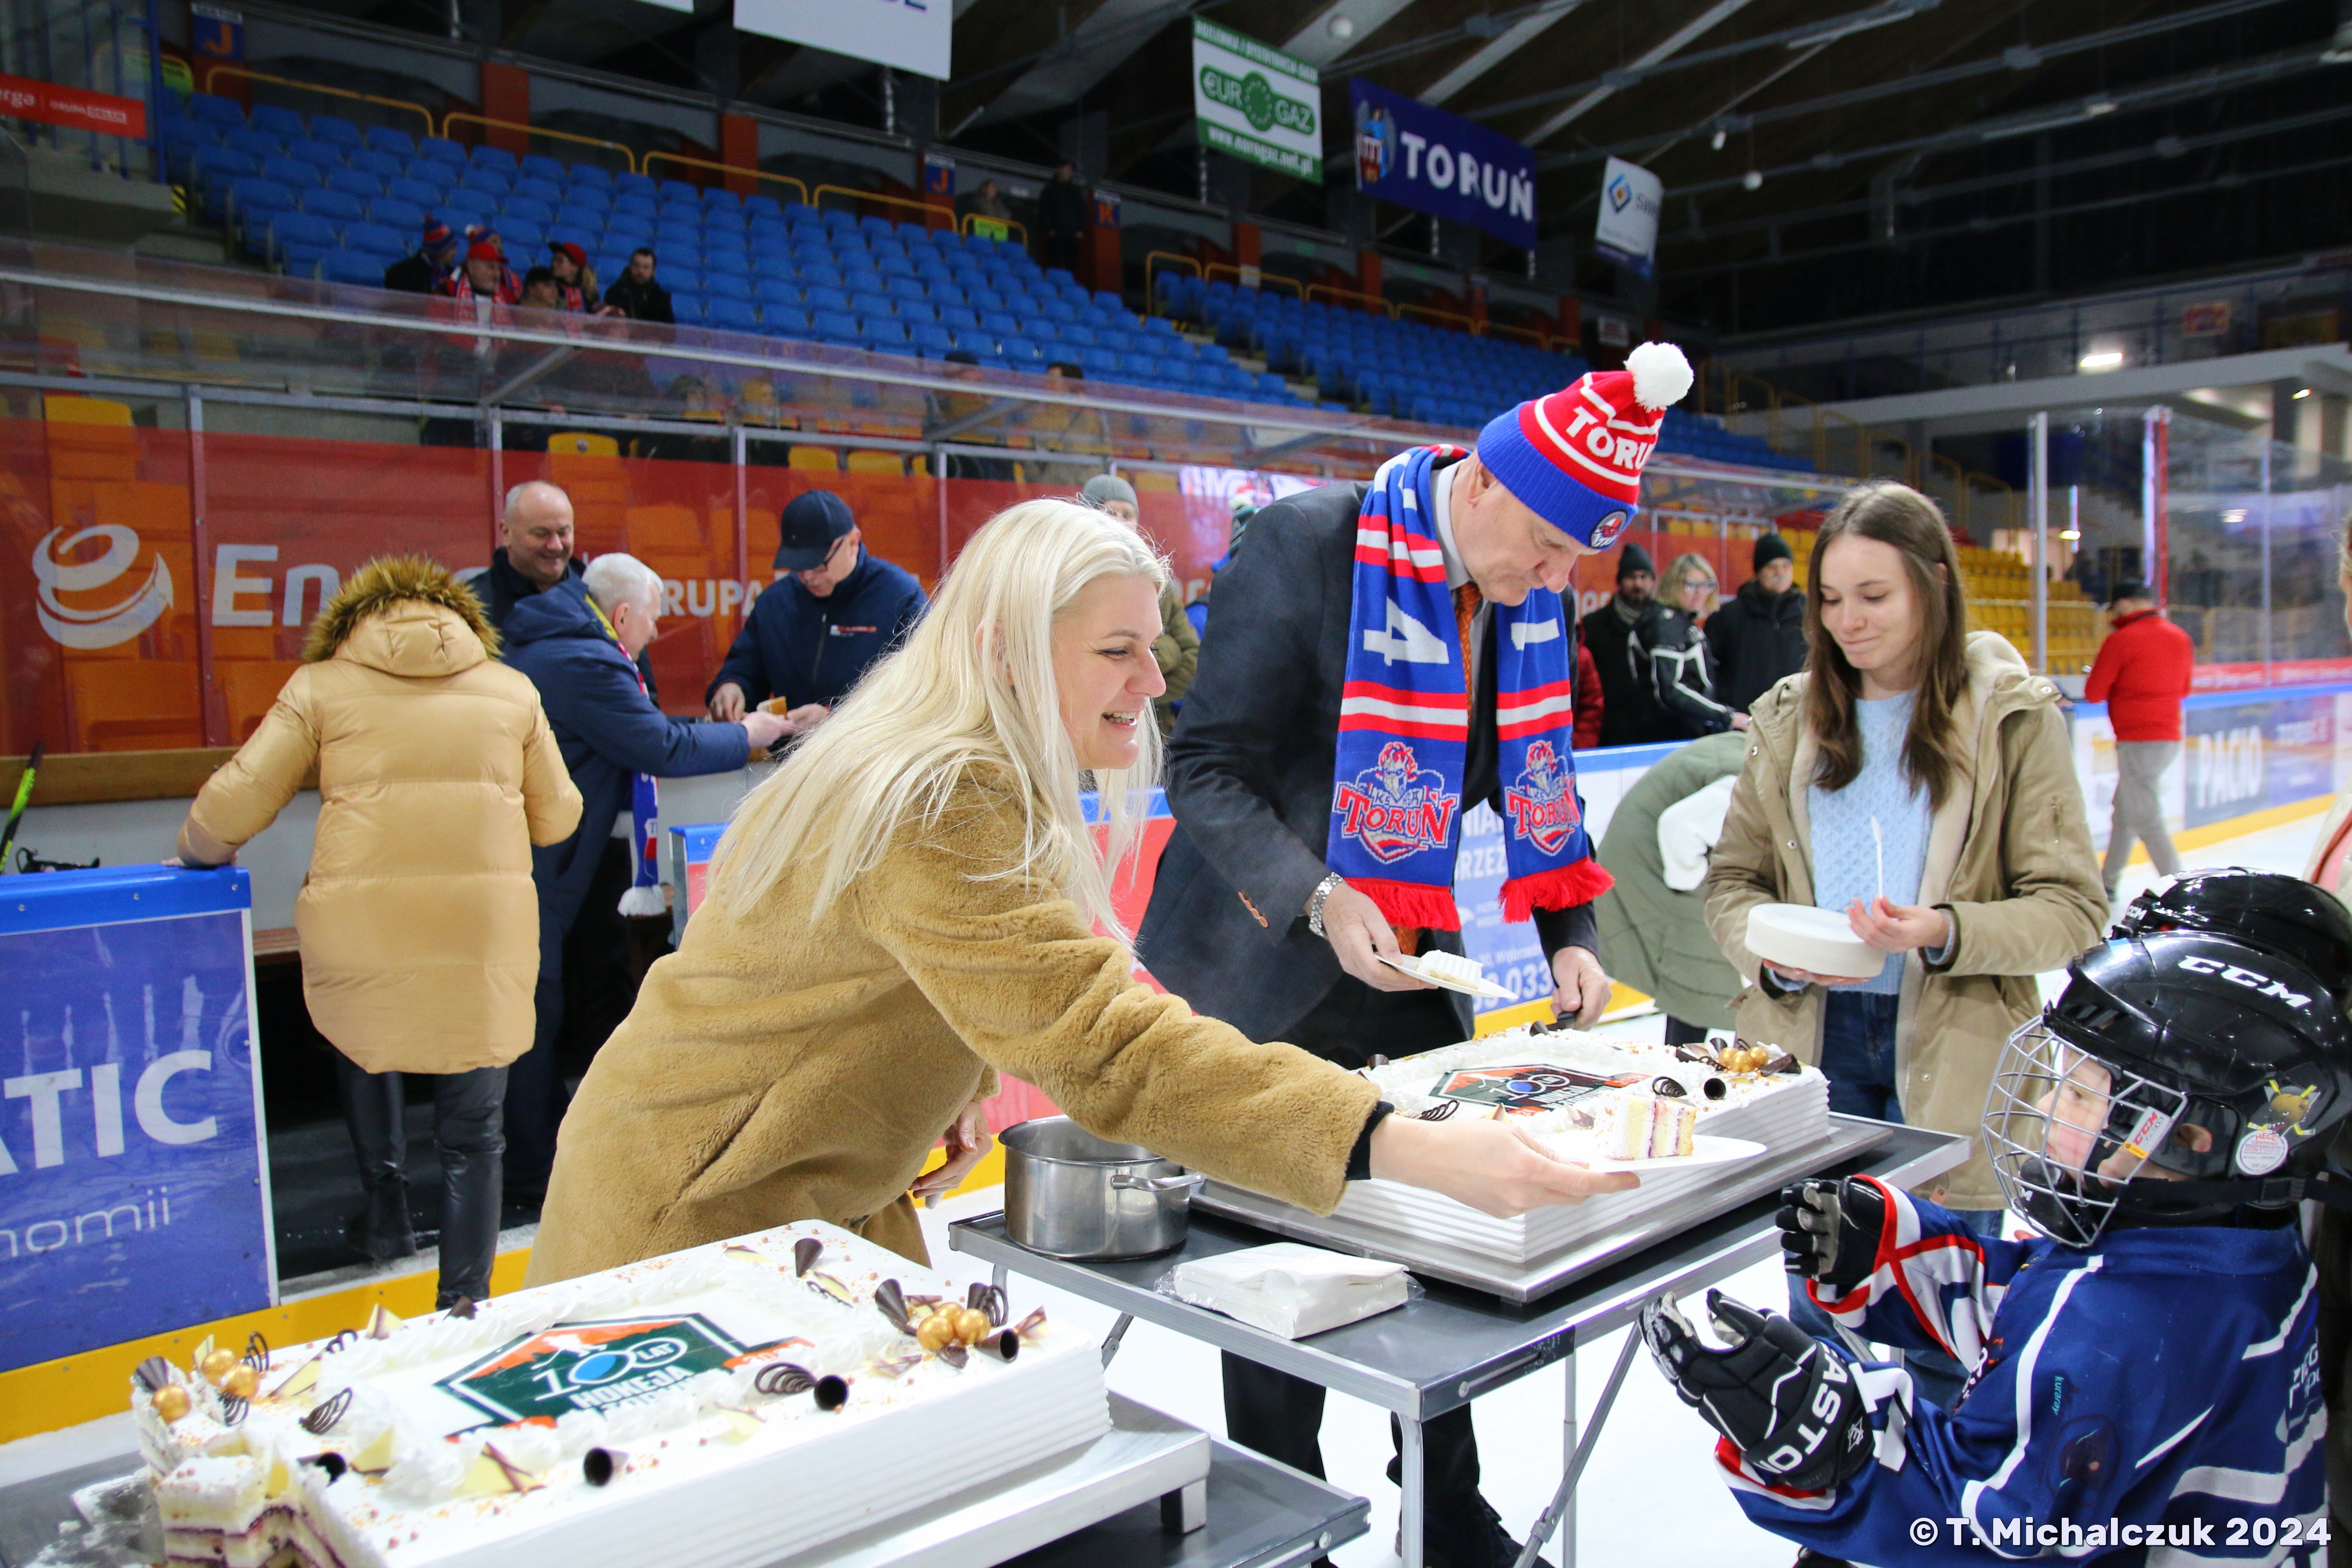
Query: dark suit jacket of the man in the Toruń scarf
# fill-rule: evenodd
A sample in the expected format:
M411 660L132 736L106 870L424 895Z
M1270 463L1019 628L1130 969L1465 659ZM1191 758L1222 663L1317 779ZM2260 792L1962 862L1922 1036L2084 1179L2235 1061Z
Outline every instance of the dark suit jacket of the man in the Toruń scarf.
M1136 957L1195 1011L1251 1039L1282 1039L1343 978L1305 903L1329 867L1338 703L1348 682L1355 522L1364 484L1261 510L1218 574L1200 675L1167 752L1176 816L1136 933ZM1482 616L1472 635L1491 639ZM1479 658L1463 804L1501 809L1494 658ZM1538 910L1545 954L1595 947L1592 905ZM1461 952L1458 931L1425 940ZM1449 992L1470 1037L1470 999Z

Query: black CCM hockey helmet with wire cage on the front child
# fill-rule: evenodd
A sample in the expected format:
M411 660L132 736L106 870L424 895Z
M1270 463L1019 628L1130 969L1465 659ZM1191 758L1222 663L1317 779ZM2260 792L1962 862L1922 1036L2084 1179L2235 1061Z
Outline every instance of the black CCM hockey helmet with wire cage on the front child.
M2067 966L2058 1001L2009 1037L1985 1145L2011 1208L2091 1246L2117 1213L2197 1225L2343 1201L2321 1171L2347 1117L2352 1023L2336 994L2293 959L2171 931Z

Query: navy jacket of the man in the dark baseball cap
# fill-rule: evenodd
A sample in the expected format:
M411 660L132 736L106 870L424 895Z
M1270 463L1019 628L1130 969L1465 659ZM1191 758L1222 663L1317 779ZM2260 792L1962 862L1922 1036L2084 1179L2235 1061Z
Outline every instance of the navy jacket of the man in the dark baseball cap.
M743 686L743 705L781 696L793 708L833 708L866 670L898 646L929 599L901 567L858 545L858 564L818 599L783 576L760 590L710 691ZM710 701L710 691L703 701Z

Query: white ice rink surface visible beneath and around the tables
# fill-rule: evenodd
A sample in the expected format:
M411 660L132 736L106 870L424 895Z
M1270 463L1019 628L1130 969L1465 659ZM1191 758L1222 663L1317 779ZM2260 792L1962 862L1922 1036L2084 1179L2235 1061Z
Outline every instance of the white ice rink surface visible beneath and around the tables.
M2185 851L2183 865L2246 865L2300 875L2319 835L2317 816L2270 827L2239 839L2223 839L2201 851ZM2122 896L2154 882L2150 865L2136 865L2124 877ZM2049 994L2063 976L2042 978ZM1658 1039L1658 1018L1609 1025L1637 1039ZM967 1192L941 1204L924 1220L931 1237L931 1262L960 1279L981 1279L985 1269L946 1246L946 1222L967 1213L1002 1206L1002 1190ZM1785 1305L1785 1274L1776 1262L1762 1262L1724 1281L1724 1291L1759 1307ZM1101 1338L1112 1314L1073 1295L1014 1279L1018 1309L1044 1305L1061 1324ZM1609 1335L1578 1352L1578 1418L1590 1418L1623 1335ZM1136 1324L1110 1363L1110 1387L1223 1436L1225 1408L1218 1399L1216 1352L1164 1328ZM1486 1500L1503 1514L1512 1537L1524 1540L1536 1514L1550 1502L1562 1472L1562 1373L1541 1371L1489 1394L1475 1406L1479 1462ZM1324 1465L1336 1486L1371 1497L1371 1533L1331 1554L1341 1568L1388 1568L1397 1563L1397 1488L1383 1467L1390 1458L1388 1420L1374 1406L1331 1394L1324 1408ZM1715 1432L1696 1410L1684 1408L1651 1366L1637 1354L1618 1394L1599 1448L1578 1486L1576 1544L1585 1568L1621 1568L1625 1563L1705 1563L1708 1568L1788 1568L1797 1549L1776 1535L1757 1530L1717 1481ZM1552 1547L1545 1561L1557 1563Z

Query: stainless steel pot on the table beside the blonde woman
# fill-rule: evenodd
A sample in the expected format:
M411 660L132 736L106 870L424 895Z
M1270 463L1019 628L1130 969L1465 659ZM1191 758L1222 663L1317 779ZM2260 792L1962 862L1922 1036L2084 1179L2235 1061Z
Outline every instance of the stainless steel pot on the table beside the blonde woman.
M1004 1234L1047 1258L1150 1258L1183 1246L1207 1182L1068 1117L1004 1128Z

